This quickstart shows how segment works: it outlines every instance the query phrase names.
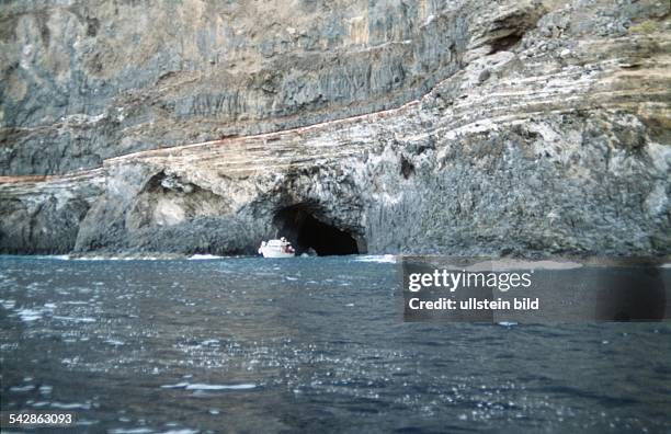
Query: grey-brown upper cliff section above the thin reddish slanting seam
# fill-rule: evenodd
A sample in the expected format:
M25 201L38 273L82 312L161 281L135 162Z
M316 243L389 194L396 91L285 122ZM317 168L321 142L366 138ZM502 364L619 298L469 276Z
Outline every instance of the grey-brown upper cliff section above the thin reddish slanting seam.
M457 70L485 4L10 2L0 174L397 106Z

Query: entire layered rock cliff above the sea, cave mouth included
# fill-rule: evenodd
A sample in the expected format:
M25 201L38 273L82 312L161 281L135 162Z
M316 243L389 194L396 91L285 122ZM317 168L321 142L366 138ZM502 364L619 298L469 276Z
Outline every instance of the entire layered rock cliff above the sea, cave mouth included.
M671 253L668 1L16 1L0 250Z

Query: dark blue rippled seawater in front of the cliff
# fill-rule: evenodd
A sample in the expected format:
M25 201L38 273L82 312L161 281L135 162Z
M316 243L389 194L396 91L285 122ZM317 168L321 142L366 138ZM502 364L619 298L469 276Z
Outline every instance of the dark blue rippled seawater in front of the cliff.
M670 323L406 323L398 285L388 256L0 258L1 410L117 434L671 431Z

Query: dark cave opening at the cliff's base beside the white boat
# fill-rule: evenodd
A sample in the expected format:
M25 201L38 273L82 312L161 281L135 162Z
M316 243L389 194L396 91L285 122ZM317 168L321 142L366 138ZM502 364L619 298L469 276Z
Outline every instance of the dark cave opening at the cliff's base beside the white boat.
M357 254L359 245L354 237L339 228L319 220L318 209L309 205L293 205L275 214L277 237L286 237L297 254L315 250L319 256Z

